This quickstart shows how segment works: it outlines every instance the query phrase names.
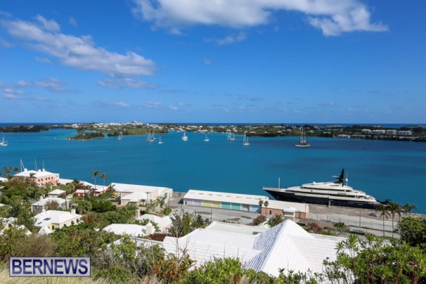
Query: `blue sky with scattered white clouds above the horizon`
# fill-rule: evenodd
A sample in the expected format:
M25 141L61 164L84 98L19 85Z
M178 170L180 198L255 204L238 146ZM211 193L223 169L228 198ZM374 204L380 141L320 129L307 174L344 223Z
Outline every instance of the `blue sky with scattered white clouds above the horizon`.
M0 5L0 122L426 122L425 1Z

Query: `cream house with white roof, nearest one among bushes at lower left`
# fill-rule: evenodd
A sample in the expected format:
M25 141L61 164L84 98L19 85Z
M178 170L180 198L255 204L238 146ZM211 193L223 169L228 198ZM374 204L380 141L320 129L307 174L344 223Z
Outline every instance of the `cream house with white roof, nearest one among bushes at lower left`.
M43 210L34 217L34 225L40 227L39 234L54 232L56 229L69 227L80 223L81 215L76 214L76 210L57 211Z

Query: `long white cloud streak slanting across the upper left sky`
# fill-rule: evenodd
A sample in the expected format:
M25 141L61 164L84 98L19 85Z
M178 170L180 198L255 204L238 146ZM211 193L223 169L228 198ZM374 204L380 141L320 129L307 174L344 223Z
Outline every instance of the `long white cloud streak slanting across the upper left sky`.
M1 20L3 28L28 47L58 58L60 63L78 69L98 71L113 77L153 75L155 63L135 52L118 54L96 47L91 36L57 32L55 21L38 16L43 25L21 20ZM43 20L44 19L44 20Z

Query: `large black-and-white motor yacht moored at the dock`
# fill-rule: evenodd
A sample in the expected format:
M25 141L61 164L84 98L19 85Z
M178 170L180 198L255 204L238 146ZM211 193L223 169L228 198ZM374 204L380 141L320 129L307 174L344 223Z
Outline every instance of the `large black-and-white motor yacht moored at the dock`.
M293 201L328 206L348 206L375 209L381 206L371 195L348 186L348 178L344 177L345 169L340 175L333 176L335 182L312 182L289 188L263 188L267 193L280 201ZM346 184L345 184L346 183Z

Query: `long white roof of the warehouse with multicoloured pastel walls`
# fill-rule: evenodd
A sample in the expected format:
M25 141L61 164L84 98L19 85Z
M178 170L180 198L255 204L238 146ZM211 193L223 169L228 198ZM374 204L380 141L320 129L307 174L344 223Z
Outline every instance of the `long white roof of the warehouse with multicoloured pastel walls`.
M216 191L190 189L183 197L185 199L199 199L209 201L223 201L236 204L259 205L260 200L268 200L264 195L244 195L239 193L220 193Z

